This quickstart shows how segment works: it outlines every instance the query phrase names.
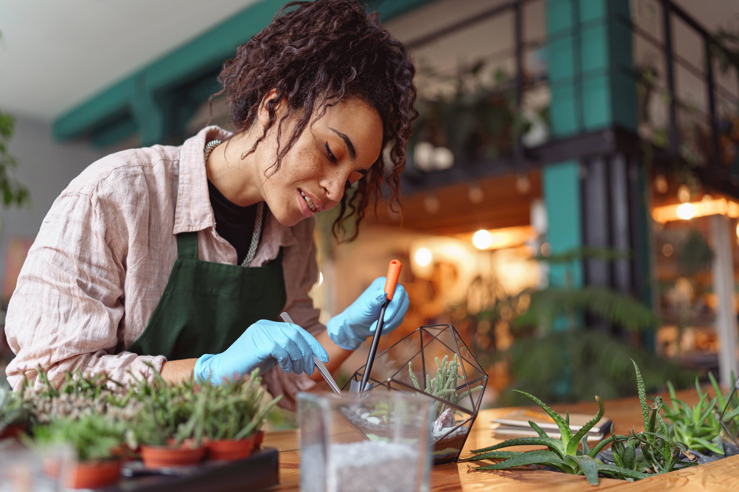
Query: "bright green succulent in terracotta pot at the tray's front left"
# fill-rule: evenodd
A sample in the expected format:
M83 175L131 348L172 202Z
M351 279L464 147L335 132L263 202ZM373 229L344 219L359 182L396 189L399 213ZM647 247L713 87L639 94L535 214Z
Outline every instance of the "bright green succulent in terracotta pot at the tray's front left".
M77 462L67 476L69 488L101 488L118 482L125 446L126 425L106 415L84 415L77 419L55 418L33 427L32 446L71 446ZM44 465L47 474L57 476L58 465Z

